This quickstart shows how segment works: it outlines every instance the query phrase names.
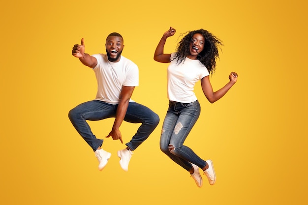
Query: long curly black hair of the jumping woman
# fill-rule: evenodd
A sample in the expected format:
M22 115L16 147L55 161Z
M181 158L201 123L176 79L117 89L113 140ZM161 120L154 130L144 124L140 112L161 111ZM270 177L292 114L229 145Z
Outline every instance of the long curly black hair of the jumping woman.
M181 34L180 36L185 36L178 43L174 59L177 59L177 63L185 61L186 56L190 54L189 45L192 41L192 36L196 33L200 33L205 39L204 49L197 59L205 65L210 74L213 74L216 69L216 59L219 58L218 48L220 49L220 46L223 46L223 44L215 35L207 30L199 29Z

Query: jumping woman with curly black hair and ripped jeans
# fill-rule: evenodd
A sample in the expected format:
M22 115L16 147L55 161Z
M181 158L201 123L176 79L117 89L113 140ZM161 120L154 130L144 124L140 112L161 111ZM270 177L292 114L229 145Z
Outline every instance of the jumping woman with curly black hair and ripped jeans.
M154 60L170 63L167 70L169 108L162 126L160 149L187 170L198 187L202 186L199 168L203 170L209 183L214 185L216 175L212 161L201 159L189 147L183 145L200 115L200 104L193 88L200 80L204 95L214 103L236 83L238 74L231 72L230 81L214 92L209 75L215 72L221 41L204 29L187 31L176 52L165 54L166 39L175 32L176 29L170 27L163 34L154 53Z

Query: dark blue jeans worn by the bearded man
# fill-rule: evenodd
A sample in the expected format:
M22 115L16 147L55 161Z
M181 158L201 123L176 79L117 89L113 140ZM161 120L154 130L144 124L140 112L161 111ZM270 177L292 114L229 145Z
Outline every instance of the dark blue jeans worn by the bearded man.
M73 108L69 111L68 117L77 132L92 147L93 151L95 151L99 146L102 146L103 140L97 139L95 135L93 135L86 120L95 121L109 117L116 117L117 108L118 105L112 105L100 100L92 100ZM130 102L128 104L124 121L142 123L130 142L125 144L131 150L135 150L154 131L159 123L159 117L146 106L136 102Z

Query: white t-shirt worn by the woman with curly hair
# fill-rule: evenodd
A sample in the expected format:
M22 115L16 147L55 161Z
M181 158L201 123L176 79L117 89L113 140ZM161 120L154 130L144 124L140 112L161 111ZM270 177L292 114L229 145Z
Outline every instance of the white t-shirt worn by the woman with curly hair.
M195 83L210 75L208 69L199 60L185 58L181 64L171 54L171 62L167 69L168 99L171 101L190 103L197 100L194 93Z

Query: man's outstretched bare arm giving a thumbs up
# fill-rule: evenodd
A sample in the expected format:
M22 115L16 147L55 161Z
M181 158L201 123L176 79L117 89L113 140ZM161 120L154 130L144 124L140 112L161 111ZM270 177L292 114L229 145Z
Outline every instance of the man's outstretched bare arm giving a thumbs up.
M89 66L91 68L97 65L97 60L85 53L85 41L84 38L81 39L81 45L75 44L72 50L72 55L82 62L82 64Z

